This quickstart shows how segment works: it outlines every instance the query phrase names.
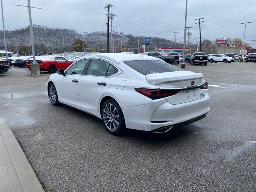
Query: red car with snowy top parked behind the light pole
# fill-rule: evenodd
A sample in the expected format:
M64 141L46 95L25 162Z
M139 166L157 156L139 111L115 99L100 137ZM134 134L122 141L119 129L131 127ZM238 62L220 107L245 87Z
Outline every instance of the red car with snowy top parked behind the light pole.
M30 65L33 62L33 58L27 62L27 67L30 69ZM39 64L40 71L48 71L54 73L58 69L66 69L74 61L69 61L62 56L49 55L49 56L36 56L36 62Z

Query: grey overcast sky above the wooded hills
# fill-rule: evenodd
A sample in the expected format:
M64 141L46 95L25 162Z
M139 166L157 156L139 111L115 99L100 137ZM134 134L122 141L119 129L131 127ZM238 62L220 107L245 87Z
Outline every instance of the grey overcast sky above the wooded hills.
M174 40L173 32L183 37L185 0L30 0L33 24L69 28L82 32L106 31L104 6L112 3L115 30L124 34L159 36ZM29 25L28 9L12 4L27 5L27 0L3 0L6 29ZM204 18L202 37L243 38L242 22L252 22L246 27L245 40L256 40L256 0L188 0L187 26L192 38L199 36L195 18ZM0 26L2 28L2 26ZM254 46L255 42L249 42ZM255 46L254 46L255 47Z

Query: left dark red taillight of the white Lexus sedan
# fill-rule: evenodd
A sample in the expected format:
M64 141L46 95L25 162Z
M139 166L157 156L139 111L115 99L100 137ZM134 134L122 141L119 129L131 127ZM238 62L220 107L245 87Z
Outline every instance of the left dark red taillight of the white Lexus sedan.
M134 88L138 93L150 98L160 99L177 94L177 90L160 90L160 89L147 89L147 88Z

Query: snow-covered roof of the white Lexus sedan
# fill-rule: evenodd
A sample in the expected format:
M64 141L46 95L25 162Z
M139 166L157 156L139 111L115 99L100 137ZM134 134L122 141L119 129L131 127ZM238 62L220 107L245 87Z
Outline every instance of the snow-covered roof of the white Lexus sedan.
M120 64L125 61L136 61L136 60L161 60L156 57L146 56L142 54L121 54L121 53L92 54L92 55L80 57L79 60L83 58L100 58L100 59L105 59L105 60L114 62L115 64Z

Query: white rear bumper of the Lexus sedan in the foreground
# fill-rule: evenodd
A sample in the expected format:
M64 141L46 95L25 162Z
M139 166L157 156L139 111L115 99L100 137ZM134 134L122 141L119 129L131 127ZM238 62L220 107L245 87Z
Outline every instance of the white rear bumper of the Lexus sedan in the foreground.
M123 107L126 127L152 132L162 127L182 125L209 111L210 96L182 104L170 104L166 99L152 100L149 104Z

